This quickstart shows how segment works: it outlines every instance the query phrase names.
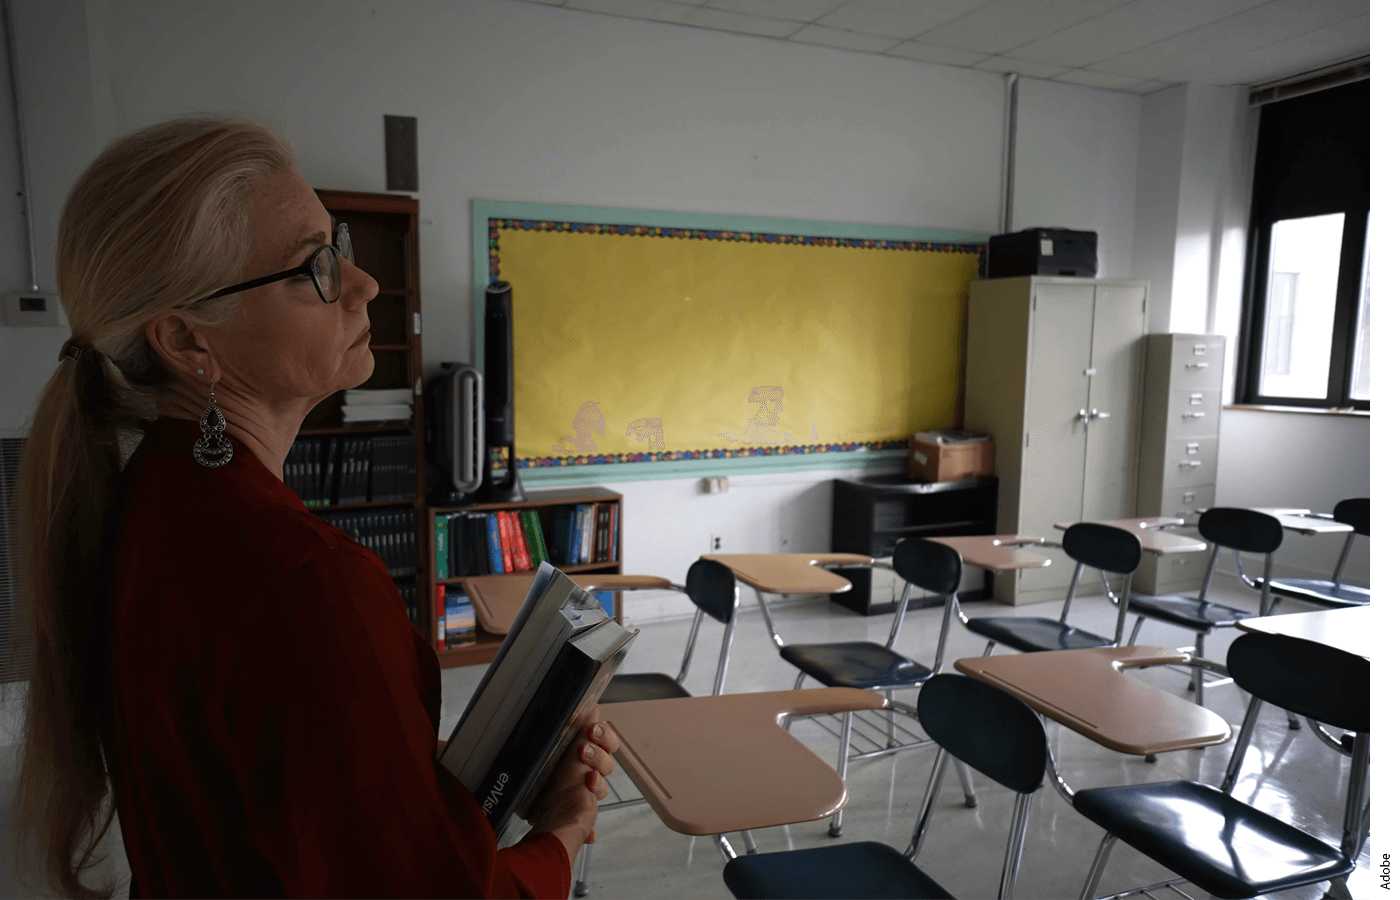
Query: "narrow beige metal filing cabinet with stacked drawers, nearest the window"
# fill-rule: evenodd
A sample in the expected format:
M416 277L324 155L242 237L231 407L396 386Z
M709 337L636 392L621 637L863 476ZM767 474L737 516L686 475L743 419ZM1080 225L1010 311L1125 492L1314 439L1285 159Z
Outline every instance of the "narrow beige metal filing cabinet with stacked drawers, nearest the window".
M1215 504L1225 339L1148 335L1137 514L1190 519ZM1137 593L1190 593L1205 577L1205 553L1144 554Z

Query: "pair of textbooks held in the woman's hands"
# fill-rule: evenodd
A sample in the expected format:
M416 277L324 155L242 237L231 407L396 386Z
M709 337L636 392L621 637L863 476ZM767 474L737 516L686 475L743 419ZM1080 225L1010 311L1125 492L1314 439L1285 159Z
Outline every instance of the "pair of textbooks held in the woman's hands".
M636 635L598 598L540 563L510 634L438 756L482 805L498 847L529 833L525 810Z

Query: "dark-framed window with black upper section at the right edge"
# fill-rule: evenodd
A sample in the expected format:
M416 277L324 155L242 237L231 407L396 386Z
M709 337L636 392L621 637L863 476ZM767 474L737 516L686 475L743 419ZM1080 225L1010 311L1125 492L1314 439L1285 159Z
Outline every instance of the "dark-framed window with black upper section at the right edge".
M1260 111L1238 399L1371 407L1369 81Z

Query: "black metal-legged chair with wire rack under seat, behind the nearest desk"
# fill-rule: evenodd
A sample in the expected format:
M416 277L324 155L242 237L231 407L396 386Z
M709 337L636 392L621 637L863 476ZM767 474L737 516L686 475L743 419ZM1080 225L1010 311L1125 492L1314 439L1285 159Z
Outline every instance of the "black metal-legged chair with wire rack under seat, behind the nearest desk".
M829 564L836 563L851 565L847 560L830 560ZM865 560L864 564L878 565L872 560ZM853 759L869 759L934 743L923 735L896 725L896 712L903 712L911 718L918 718L918 714L917 710L907 704L895 703L893 691L896 689L920 687L932 677L934 670L899 654L895 649L895 641L899 640L900 628L904 624L904 614L909 612L911 589L917 585L942 598L955 598L958 584L962 581L962 560L955 550L942 544L924 540L902 540L895 547L893 570L904 579L904 592L900 595L899 605L895 609L895 621L890 626L889 638L885 644L875 644L874 641L787 644L773 626L773 619L763 600L763 592L755 589L759 595L764 621L769 626L769 637L773 638L773 644L778 648L778 655L798 668L797 683L792 686L794 690L802 687L802 682L811 676L826 687L855 687L883 691L889 700L888 711L885 712L883 747L878 746L878 740L867 738L871 743L876 745L876 749L851 754L855 712L844 714L840 729L840 750L836 757L836 771L843 781L846 780L847 763ZM945 602L952 602L952 599L946 599ZM902 735L897 732L903 732L906 738L903 742L900 740ZM973 794L972 778L962 767L959 767L959 777L963 785L965 803L976 806L977 799ZM837 812L832 819L829 827L832 837L840 837L841 817L843 812Z

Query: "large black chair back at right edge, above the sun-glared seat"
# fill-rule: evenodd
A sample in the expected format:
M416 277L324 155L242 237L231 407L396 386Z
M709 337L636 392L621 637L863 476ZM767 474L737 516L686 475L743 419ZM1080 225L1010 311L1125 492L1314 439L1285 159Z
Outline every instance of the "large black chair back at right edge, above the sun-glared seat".
M1225 658L1231 677L1264 703L1336 728L1371 733L1371 661L1284 634L1243 634Z

